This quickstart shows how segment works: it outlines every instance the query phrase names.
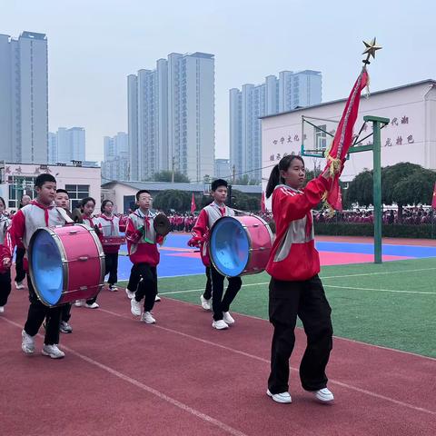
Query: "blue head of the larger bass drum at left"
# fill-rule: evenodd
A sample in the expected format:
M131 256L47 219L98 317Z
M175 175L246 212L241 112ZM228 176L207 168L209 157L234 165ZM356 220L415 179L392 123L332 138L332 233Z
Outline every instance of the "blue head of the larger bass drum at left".
M45 230L32 236L30 243L30 272L39 299L53 306L61 299L64 288L64 271L59 248Z

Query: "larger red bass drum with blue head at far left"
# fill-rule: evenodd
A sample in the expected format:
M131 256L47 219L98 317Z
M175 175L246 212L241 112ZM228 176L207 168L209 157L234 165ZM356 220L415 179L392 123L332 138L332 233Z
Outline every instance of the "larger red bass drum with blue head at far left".
M84 224L36 230L28 256L36 295L47 306L89 300L103 287L102 244Z

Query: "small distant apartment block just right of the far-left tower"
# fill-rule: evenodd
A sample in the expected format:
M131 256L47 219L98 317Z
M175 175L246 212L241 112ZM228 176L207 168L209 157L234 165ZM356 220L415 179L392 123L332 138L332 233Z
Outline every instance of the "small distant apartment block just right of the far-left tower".
M85 134L83 127L59 127L48 135L49 163L66 163L85 159Z

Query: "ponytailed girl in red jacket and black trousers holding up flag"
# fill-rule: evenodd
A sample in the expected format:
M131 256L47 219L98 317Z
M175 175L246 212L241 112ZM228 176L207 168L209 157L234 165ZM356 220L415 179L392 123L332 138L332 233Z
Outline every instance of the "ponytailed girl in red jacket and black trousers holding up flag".
M274 327L271 373L267 395L273 401L292 402L289 393L289 359L295 342L297 316L307 335L300 364L305 391L318 401L334 400L327 389L325 368L332 351L332 320L329 302L318 277L320 258L315 249L312 208L331 187L329 170L311 180L302 190L305 168L302 157L287 155L274 166L266 196L272 194L276 238L266 271L270 282L269 314Z

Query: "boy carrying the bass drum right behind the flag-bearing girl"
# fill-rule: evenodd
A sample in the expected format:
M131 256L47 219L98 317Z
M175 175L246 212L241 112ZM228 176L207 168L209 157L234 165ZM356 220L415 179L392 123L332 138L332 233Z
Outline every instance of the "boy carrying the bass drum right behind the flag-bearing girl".
M211 191L213 196L213 203L203 207L202 212L198 215L197 222L193 226L193 237L188 241L190 247L200 245L202 253L202 261L204 266L210 267L210 277L212 282L212 309L213 309L213 322L212 326L217 330L224 330L229 325L234 324L232 315L229 312L230 305L234 297L241 289L241 277L229 277L229 286L227 291L224 292L224 276L216 271L211 263L208 255L208 241L209 231L213 223L220 219L222 216L234 216L234 211L227 207L224 202L227 198L227 182L223 179L214 180L211 184ZM207 272L207 269L206 269ZM207 289L206 289L207 292ZM206 295L209 296L209 295ZM202 295L200 297L203 309L208 310L210 307L210 300L206 300ZM208 302L208 304L206 304Z

